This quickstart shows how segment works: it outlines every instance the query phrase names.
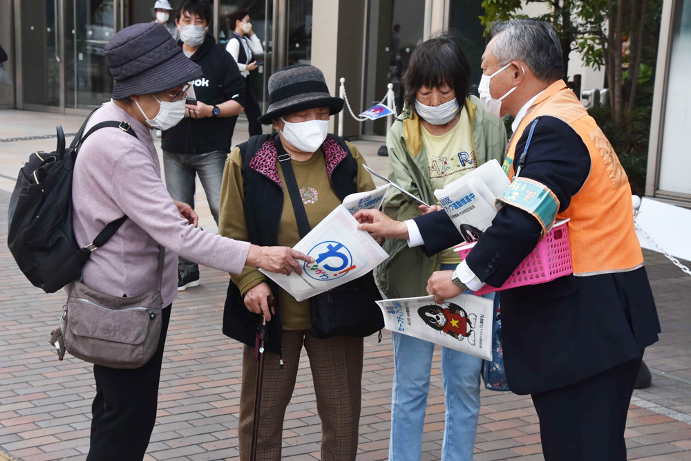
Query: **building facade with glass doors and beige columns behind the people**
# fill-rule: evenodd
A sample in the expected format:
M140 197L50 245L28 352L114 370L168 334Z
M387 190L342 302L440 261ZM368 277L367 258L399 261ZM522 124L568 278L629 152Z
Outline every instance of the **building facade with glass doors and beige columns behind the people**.
M177 6L179 0L171 0ZM0 88L0 108L86 114L108 100L112 79L103 55L111 37L133 23L152 21L154 0L0 0L0 45L8 51L10 88ZM401 76L410 54L433 32L457 30L467 43L471 83L480 82L484 13L479 0L211 0L211 32L225 46L225 16L248 10L264 43L263 64L255 71L254 92L266 104L267 79L290 64L323 70L332 94L339 79L352 111L381 101L393 84L398 111L403 105ZM540 15L532 4L524 11ZM539 8L539 7L538 7ZM576 59L574 59L576 58ZM601 88L603 75L571 56L569 73L583 74L583 89ZM471 91L476 91L471 88ZM344 133L383 140L386 121L357 122L347 109Z

